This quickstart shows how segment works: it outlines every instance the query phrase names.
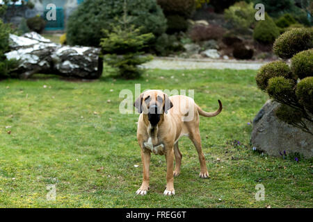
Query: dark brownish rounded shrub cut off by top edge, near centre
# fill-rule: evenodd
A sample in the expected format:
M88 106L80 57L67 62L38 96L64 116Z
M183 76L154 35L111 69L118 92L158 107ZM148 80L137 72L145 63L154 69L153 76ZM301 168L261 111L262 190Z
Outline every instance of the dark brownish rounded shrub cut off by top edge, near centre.
M179 15L185 19L190 18L195 12L195 0L157 0L166 17Z

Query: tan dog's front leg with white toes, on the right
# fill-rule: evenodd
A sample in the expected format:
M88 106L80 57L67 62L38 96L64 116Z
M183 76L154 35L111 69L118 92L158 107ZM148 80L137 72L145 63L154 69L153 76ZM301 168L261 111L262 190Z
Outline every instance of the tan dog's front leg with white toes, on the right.
M164 191L164 195L174 195L175 189L174 189L174 148L170 148L166 151L166 190Z

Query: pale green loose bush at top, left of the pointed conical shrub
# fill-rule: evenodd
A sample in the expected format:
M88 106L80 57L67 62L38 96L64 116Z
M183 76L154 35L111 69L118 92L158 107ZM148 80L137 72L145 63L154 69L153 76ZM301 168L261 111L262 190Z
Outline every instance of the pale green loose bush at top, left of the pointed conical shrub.
M225 10L225 18L238 28L250 28L255 23L255 8L253 3L239 1Z

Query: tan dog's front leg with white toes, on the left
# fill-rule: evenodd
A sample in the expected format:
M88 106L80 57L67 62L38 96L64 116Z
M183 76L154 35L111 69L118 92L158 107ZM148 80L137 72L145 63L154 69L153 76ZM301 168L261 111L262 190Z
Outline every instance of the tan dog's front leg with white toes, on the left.
M150 181L150 151L147 151L145 148L141 148L141 160L143 162L143 183L141 188L136 191L137 195L145 195L149 189L149 181Z

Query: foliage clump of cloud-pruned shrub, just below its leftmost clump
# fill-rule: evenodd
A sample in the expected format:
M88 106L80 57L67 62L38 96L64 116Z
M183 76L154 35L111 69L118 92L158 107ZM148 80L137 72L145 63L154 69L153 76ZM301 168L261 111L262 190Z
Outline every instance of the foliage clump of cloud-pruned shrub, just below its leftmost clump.
M295 98L294 93L294 80L284 78L282 76L273 77L268 80L268 86L266 87L266 92L268 96L275 101L284 101L286 99Z

